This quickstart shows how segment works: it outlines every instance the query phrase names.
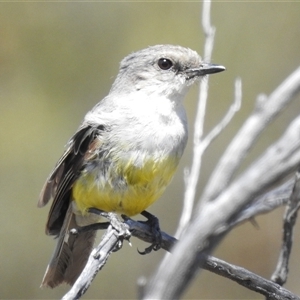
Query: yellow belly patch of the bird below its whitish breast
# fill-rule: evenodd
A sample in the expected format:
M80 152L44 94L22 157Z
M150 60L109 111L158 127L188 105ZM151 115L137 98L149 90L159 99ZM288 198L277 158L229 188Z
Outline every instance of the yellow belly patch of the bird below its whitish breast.
M85 213L88 208L136 215L164 192L177 167L175 158L161 158L144 162L140 167L129 162L118 163L110 171L109 179L99 179L99 170L82 172L72 188L77 208ZM114 180L115 178L122 180Z

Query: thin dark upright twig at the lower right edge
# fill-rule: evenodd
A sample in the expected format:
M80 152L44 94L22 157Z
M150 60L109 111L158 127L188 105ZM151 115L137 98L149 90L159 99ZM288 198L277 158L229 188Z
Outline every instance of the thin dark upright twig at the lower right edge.
M294 225L300 206L300 173L296 172L295 185L288 201L283 224L283 244L279 254L278 264L271 280L283 285L287 280L288 264L293 244Z

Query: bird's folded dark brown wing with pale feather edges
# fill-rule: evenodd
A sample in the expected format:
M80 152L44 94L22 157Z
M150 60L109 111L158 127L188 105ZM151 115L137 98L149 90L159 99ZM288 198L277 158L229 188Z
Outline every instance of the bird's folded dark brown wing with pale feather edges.
M69 207L72 186L89 153L95 154L91 148L100 146L100 140L96 138L103 131L103 125L82 125L70 139L66 151L49 175L38 201L38 207L43 207L53 199L46 224L47 234L59 234Z

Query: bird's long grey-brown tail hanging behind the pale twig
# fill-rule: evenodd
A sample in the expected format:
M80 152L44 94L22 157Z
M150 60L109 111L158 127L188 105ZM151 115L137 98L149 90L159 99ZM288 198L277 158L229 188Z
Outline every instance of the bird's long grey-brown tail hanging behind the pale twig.
M41 286L54 288L61 283L73 285L82 272L92 251L96 232L70 234L76 228L75 214L70 203L61 228L57 246L45 272Z

